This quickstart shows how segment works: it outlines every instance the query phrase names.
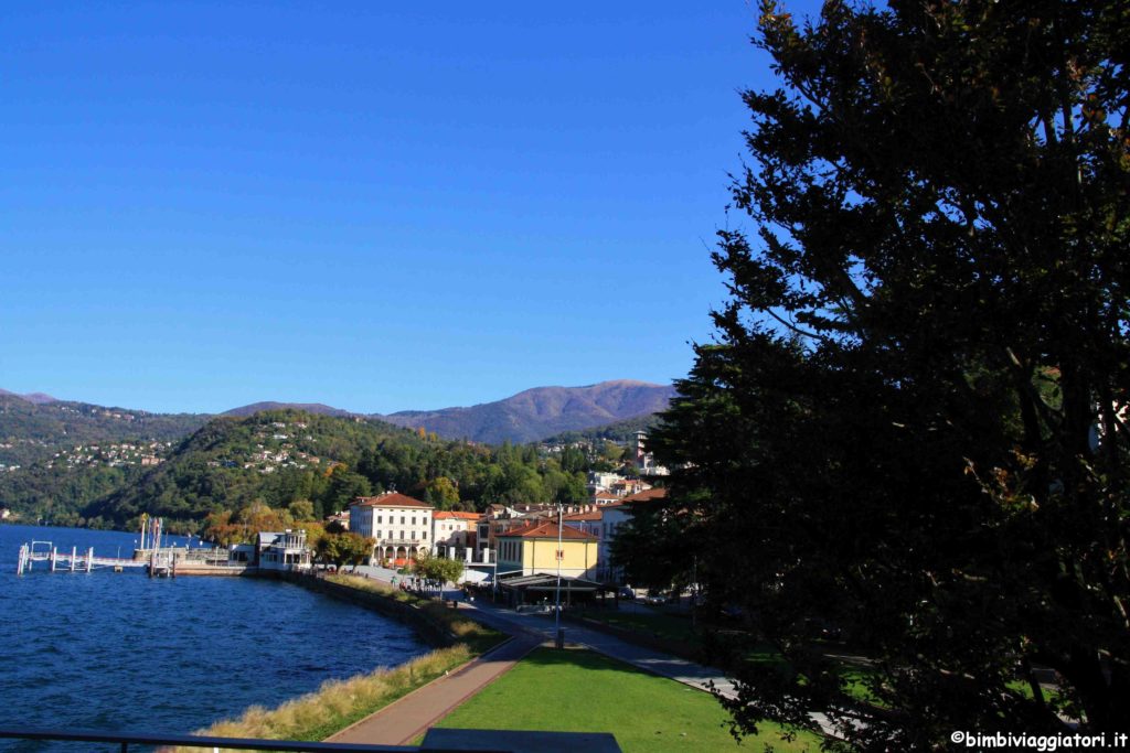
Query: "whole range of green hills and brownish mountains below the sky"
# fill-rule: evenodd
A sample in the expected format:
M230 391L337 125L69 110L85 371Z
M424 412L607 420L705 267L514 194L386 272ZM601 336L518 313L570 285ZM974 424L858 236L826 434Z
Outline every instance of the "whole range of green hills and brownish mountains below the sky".
M3 391L0 506L25 519L92 527L120 527L149 511L195 531L209 513L255 500L341 509L368 493L368 483L445 504L579 499L585 456L539 455L525 443L549 434L598 445L628 438L672 395L671 387L617 380L392 415L268 402L207 415Z

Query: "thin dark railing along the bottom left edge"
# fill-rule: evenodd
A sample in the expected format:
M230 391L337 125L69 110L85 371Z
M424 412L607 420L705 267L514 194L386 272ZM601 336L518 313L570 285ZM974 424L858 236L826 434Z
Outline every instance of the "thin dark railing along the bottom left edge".
M122 753L129 753L130 745L184 745L189 747L220 748L236 751L287 751L296 753L345 753L347 751L367 753L407 753L420 748L405 745L363 745L358 743L304 743L296 739L261 739L244 737L211 737L207 735L151 735L146 733L105 733L89 729L64 732L62 729L37 729L31 727L0 728L0 739L37 739L78 743L108 743L121 745ZM450 748L427 748L429 753L454 753ZM466 750L466 748L464 748ZM511 753L510 751L484 750L481 753Z

